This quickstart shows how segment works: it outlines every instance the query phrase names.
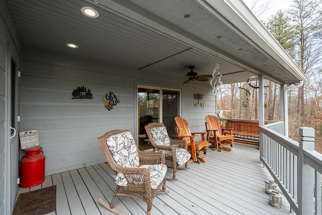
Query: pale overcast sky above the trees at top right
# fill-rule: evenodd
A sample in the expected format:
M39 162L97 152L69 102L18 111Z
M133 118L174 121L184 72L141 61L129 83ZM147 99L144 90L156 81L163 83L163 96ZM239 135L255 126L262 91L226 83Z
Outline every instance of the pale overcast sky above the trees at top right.
M252 7L252 3L254 2L254 0L243 0L245 2L245 4L251 8ZM279 9L285 10L289 7L289 5L291 4L291 0L258 0L259 4L268 2L270 5L269 10L260 16L261 20L267 20L269 18L270 15L275 14Z

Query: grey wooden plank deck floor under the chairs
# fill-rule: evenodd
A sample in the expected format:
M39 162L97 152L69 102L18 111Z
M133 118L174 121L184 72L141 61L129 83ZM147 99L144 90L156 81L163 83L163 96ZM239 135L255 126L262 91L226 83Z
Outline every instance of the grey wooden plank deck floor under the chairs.
M268 202L266 179L272 179L259 163L256 147L235 144L231 152L208 150L206 163L190 163L178 170L178 181L167 181L170 192L156 195L154 214L291 214L289 204L275 208ZM20 188L19 193L57 185L56 213L113 214L98 201L109 202L115 189L113 171L105 163L46 176L43 184ZM168 177L173 170L168 168ZM146 204L127 196L115 201L115 208L127 214L145 214Z

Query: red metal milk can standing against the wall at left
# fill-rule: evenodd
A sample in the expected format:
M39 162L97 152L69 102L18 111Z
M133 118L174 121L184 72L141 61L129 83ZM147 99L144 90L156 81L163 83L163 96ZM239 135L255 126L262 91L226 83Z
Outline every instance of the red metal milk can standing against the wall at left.
M42 147L25 149L20 161L20 187L37 186L45 181L45 156Z

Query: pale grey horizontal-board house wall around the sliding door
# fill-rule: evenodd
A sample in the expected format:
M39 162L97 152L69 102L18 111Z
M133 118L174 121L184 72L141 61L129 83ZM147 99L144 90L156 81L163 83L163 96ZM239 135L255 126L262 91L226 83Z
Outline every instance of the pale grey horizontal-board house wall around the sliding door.
M214 110L210 87L167 86L167 77L45 50L24 49L22 75L21 131L38 130L46 175L102 163L97 137L108 130L136 134L135 83L182 89L182 116L192 131L204 131L205 116ZM72 99L72 91L82 86L93 99ZM108 111L102 97L110 92L120 102ZM194 106L197 93L205 94L199 101L206 102L204 109Z

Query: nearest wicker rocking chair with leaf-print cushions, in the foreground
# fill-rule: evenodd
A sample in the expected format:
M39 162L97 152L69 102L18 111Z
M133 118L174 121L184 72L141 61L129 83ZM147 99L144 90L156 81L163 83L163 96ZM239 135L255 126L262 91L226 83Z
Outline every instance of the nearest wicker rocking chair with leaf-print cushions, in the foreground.
M122 214L114 208L117 195L131 196L147 204L146 214L151 214L155 194L168 193L165 176L167 165L162 153L141 152L137 149L129 130L111 130L98 137L99 144L110 167L115 172L116 189L108 204L99 199L107 209ZM158 191L162 187L162 191Z

